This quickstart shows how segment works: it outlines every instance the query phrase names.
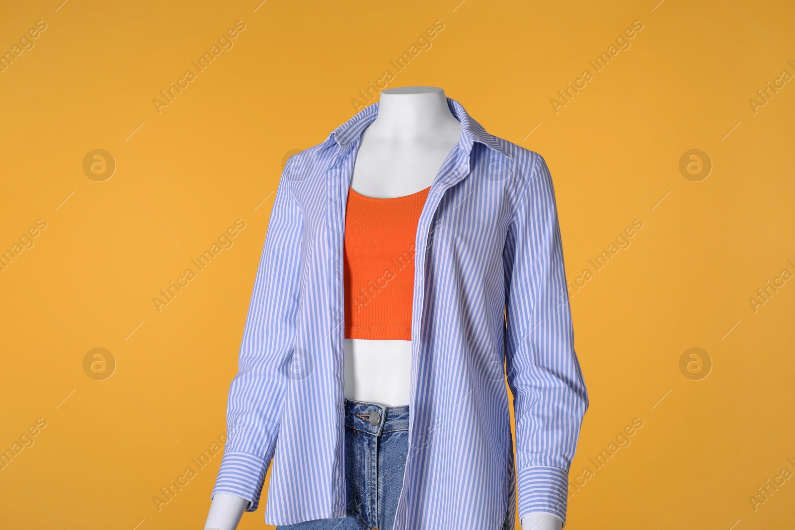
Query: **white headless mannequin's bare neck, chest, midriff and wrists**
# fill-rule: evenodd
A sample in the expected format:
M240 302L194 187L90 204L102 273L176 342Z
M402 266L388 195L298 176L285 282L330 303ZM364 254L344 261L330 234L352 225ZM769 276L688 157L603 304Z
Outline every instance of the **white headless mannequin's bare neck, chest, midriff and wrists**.
M362 133L351 188L362 195L391 198L428 188L459 141L461 124L450 112L444 90L390 88L381 92L378 117ZM390 407L409 404L411 341L345 339L348 400ZM248 501L216 493L205 530L234 530ZM560 530L552 513L520 514L523 530Z

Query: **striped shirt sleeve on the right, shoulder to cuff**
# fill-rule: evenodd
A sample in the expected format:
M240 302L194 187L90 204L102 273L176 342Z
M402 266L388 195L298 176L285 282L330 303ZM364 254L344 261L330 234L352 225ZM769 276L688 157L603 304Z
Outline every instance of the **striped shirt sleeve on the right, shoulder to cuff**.
M588 408L552 177L533 153L506 236L506 373L514 394L518 511L565 524L568 470Z

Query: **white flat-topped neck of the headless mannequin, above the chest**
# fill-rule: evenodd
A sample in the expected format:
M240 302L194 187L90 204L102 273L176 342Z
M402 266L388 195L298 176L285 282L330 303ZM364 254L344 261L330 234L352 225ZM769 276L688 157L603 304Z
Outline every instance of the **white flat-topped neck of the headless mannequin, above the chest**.
M441 88L402 87L381 92L378 116L367 129L380 139L413 142L460 130L460 122Z

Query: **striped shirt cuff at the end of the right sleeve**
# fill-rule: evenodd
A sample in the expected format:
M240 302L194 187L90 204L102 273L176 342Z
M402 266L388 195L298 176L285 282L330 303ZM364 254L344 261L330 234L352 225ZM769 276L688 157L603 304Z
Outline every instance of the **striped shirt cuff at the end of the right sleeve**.
M525 467L517 473L517 491L520 516L547 512L566 525L568 473L564 470L552 466Z

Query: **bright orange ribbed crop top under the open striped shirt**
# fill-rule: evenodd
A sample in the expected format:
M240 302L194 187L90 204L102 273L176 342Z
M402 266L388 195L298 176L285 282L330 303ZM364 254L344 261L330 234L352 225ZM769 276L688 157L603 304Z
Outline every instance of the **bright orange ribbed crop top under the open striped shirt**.
M377 199L348 189L346 339L411 340L414 240L429 190Z

